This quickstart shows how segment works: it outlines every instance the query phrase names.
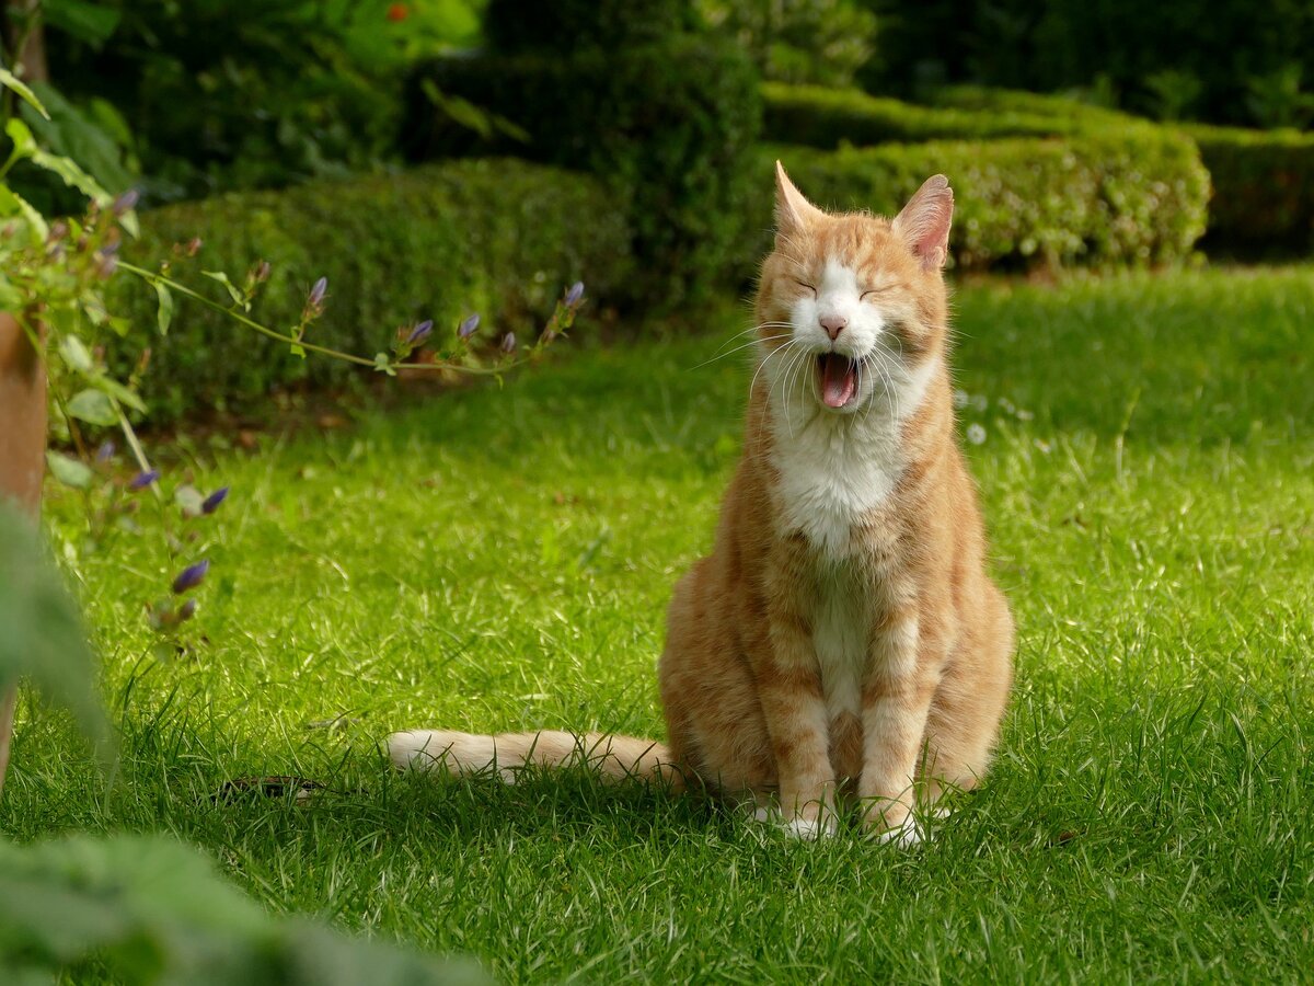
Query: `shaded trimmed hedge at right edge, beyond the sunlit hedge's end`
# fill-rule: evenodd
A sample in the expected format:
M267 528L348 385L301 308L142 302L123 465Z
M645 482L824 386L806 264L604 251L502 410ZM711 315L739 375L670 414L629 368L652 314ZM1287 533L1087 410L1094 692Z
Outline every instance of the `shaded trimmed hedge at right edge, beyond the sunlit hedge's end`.
M1184 128L1214 183L1206 243L1243 252L1314 243L1314 134Z

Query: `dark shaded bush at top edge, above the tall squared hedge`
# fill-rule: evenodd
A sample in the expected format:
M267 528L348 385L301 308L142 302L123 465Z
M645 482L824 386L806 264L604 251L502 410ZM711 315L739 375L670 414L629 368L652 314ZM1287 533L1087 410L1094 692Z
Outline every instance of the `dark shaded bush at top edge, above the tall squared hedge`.
M631 47L696 26L690 0L489 0L484 35L501 53Z

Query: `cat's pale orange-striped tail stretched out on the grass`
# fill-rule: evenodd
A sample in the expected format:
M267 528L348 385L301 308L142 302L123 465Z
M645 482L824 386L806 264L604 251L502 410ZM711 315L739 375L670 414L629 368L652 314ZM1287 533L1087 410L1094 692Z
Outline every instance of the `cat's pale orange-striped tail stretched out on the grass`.
M583 765L608 781L657 781L675 791L689 786L664 744L600 732L577 735L543 730L477 736L447 730L411 730L388 738L388 756L403 770L495 772L507 784L515 784L519 772L531 765Z

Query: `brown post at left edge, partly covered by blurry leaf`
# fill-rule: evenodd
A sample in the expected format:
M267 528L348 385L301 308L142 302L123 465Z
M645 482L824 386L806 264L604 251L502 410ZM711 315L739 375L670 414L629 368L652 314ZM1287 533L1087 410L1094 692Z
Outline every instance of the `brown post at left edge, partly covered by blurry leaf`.
M28 334L0 312L0 498L17 501L35 522L45 473L46 371ZM17 701L17 688L0 697L0 791Z

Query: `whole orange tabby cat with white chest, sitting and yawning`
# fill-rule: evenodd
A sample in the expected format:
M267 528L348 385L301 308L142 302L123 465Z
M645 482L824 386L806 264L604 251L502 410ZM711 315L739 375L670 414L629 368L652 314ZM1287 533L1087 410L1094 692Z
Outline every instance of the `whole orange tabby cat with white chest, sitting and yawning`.
M855 795L871 831L921 839L941 795L986 772L1012 680L1013 621L954 436L953 208L936 175L892 221L828 214L777 164L744 458L658 667L669 747L419 730L389 739L393 760L514 781L583 756L750 798L799 835L833 831Z

